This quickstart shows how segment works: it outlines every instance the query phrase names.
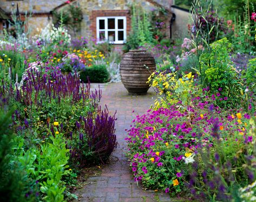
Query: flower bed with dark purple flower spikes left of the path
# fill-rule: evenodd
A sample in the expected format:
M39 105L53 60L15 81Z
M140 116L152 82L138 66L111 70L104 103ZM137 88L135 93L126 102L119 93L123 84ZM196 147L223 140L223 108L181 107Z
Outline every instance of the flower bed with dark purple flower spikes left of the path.
M80 168L106 163L116 147L115 115L101 110L101 90L81 84L76 72L63 75L42 60L41 51L37 59L34 64L24 62L27 70L21 83L3 78L0 86L0 170L6 169L1 184L10 178L10 188L1 187L4 201L75 197L67 187L75 186ZM12 194L16 182L19 189Z

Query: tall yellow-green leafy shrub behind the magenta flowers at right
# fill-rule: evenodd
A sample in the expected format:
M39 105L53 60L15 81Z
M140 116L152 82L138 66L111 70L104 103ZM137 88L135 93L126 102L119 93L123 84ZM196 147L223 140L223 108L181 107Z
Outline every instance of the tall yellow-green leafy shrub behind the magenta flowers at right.
M215 41L210 45L211 50L202 53L200 64L202 69L201 78L203 85L209 87L211 93L218 93L228 99L226 107L232 107L234 103L241 103L241 95L244 92L244 85L239 74L233 67L229 58L232 44L227 38ZM218 105L222 105L221 102ZM221 106L222 107L222 106Z

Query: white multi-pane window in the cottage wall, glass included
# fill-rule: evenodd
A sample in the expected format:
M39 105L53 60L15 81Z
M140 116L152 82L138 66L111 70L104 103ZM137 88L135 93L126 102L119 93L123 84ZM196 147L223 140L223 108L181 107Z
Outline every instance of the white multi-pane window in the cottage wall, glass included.
M126 41L126 17L97 17L96 23L97 43L123 44Z

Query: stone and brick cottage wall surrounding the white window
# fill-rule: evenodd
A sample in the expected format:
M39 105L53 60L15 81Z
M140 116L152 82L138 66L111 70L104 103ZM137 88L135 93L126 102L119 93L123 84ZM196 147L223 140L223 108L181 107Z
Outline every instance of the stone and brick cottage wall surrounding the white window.
M67 0L23 0L23 1L8 1L1 0L1 8L6 12L16 11L16 3L19 6L20 13L33 13L28 19L28 30L31 36L37 33L37 28L41 29L48 23L52 22L50 11L57 8L57 11L67 9ZM15 4L12 6L12 2ZM96 34L96 17L108 15L107 11L112 11L111 15L127 17L127 34L130 30L130 5L133 0L77 0L71 3L80 6L83 12L83 21L81 24L81 36L94 36ZM136 4L141 5L147 12L158 9L157 4L163 5L166 9L170 8L173 0L135 0ZM60 6L63 5L63 6ZM29 16L29 15L28 15ZM169 24L170 13L165 18L165 23ZM169 30L165 30L168 36Z

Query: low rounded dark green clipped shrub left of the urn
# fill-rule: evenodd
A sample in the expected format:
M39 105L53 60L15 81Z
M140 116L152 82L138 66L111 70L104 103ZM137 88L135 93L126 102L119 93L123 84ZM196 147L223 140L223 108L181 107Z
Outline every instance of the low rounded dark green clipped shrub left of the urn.
M83 82L105 83L109 81L109 72L106 65L92 65L87 67L86 70L80 73L80 79Z

